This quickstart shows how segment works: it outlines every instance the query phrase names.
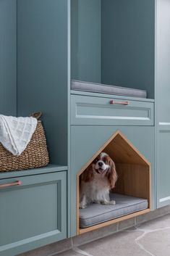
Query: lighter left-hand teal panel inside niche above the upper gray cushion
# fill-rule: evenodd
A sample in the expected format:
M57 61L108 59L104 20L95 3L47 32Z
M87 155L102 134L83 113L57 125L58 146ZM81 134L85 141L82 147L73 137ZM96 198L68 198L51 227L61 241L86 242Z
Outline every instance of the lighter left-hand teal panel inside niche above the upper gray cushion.
M101 83L101 0L72 1L72 79Z

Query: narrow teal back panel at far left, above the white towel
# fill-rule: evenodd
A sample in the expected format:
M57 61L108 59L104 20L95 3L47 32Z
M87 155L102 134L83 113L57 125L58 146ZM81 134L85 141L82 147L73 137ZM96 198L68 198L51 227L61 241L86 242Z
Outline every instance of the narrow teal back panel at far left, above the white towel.
M0 114L17 115L17 1L0 1Z

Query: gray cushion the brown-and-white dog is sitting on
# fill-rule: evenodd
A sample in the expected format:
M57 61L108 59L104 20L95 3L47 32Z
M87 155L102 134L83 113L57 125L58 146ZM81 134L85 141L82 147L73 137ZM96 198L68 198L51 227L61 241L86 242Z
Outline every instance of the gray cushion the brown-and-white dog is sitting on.
M110 194L110 198L116 201L116 205L92 204L85 209L80 209L80 228L87 228L148 208L147 199L113 193Z

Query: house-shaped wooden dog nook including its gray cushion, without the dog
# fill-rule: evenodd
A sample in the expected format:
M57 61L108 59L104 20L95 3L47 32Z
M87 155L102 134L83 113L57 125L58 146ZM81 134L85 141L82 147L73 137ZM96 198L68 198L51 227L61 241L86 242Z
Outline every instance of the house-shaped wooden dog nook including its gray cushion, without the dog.
M111 199L116 205L89 205L79 209L80 175L101 152L114 160L119 176ZM112 193L113 192L113 193ZM77 234L82 234L150 211L150 162L120 132L93 155L77 173Z

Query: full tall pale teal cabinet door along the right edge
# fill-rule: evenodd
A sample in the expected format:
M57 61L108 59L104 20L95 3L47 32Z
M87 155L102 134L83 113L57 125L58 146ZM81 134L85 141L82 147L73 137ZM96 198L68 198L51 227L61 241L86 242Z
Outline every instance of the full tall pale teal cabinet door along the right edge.
M170 205L170 1L157 1L156 17L157 206L163 207Z

